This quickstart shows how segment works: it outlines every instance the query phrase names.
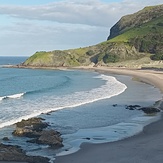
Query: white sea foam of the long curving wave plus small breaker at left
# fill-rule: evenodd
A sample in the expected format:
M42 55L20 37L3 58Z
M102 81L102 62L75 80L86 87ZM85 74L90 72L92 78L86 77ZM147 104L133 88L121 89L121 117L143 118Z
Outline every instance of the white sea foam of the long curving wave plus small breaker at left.
M41 113L48 113L51 111L56 111L64 108L77 107L84 104L92 103L98 100L111 98L113 96L119 95L125 91L127 86L112 76L99 75L95 78L106 81L104 85L93 88L88 91L74 92L66 95L51 95L51 96L42 96L35 101L27 101L24 103L20 99L20 102L17 106L14 107L14 110L10 106L9 114L5 115L5 121L0 123L0 128L12 125L21 121L22 119L32 118L38 116ZM24 94L27 93L18 93L14 95L1 97L0 100L5 98L10 99L19 99ZM25 98L23 98L25 100ZM10 100L9 100L10 101ZM12 110L12 112L10 112Z

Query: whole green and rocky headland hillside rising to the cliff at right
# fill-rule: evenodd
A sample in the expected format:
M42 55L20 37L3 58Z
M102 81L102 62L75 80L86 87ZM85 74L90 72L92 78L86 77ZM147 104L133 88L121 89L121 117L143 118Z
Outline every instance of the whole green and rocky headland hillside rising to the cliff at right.
M135 14L122 17L103 43L78 49L36 52L23 66L72 67L91 64L142 67L157 65L158 62L153 60L163 60L163 5L145 7Z

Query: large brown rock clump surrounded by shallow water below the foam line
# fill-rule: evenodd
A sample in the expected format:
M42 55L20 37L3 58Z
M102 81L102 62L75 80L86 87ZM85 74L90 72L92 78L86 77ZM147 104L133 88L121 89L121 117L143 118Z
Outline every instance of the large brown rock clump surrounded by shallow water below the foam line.
M52 147L62 147L61 134L53 129L45 129L49 125L42 122L41 118L31 118L22 120L16 124L16 130L13 132L14 136L33 138L28 142L37 144L47 144Z

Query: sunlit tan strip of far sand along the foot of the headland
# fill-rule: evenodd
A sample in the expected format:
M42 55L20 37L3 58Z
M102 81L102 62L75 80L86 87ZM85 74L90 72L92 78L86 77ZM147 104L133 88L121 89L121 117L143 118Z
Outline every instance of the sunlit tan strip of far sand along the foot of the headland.
M36 67L36 66L22 66L22 65L8 65L3 66L3 68L22 68L22 69L45 69L45 70L88 70L88 71L97 71L97 72L108 72L111 74L117 75L127 75L132 77L137 77L141 82L154 85L159 88L163 93L163 84L158 81L163 80L163 70L162 69L129 69L122 67L106 67L106 66L78 66L78 67ZM155 79L155 77L157 79Z

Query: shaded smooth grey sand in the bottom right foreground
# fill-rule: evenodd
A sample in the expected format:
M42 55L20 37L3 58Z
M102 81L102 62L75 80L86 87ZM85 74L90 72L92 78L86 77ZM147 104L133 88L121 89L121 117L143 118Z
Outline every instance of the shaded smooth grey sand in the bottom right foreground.
M81 145L73 154L57 157L55 163L162 163L163 117L132 137L103 144Z

